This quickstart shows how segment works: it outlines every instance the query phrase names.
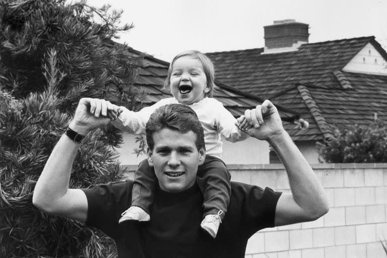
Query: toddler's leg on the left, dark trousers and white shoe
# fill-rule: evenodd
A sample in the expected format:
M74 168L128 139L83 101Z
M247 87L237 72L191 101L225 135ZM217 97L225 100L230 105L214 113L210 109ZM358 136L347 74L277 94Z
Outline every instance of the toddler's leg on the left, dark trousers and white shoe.
M150 220L150 208L153 204L153 193L157 177L148 160L141 161L135 172L135 181L132 189L132 205L122 213L119 223L125 220Z

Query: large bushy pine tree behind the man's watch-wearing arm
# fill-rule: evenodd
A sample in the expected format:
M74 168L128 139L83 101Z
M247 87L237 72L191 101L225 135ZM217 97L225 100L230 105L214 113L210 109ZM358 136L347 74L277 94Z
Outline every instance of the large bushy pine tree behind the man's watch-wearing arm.
M112 41L121 12L63 0L0 0L0 257L113 257L112 240L32 205L54 145L82 97L135 109L130 86L141 56ZM74 162L71 188L117 181L113 126L90 133Z

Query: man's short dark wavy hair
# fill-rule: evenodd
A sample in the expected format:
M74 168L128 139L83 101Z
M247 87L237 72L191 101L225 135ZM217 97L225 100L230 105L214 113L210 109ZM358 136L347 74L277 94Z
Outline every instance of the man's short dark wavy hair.
M202 124L199 121L198 115L190 107L181 104L169 104L157 108L149 117L146 125L147 144L153 150L155 143L153 135L163 128L187 133L192 131L196 135L196 147L198 151L203 148L204 132Z

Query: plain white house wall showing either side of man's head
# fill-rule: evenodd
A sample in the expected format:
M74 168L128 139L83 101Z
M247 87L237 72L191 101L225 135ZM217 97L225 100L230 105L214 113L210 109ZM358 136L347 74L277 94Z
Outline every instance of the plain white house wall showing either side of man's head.
M227 141L223 143L222 159L226 164L269 164L269 144L267 142L249 138L239 143ZM133 153L133 149L138 146L133 135L123 134L123 144L117 149L121 165L138 165L146 158L145 155L137 157Z

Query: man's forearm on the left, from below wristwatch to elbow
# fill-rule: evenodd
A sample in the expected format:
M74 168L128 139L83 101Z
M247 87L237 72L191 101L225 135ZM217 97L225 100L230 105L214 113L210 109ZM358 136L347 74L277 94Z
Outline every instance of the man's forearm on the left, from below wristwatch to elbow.
M49 211L66 194L78 148L79 144L66 135L55 145L35 186L32 202L39 209Z

